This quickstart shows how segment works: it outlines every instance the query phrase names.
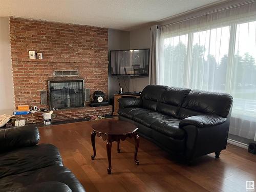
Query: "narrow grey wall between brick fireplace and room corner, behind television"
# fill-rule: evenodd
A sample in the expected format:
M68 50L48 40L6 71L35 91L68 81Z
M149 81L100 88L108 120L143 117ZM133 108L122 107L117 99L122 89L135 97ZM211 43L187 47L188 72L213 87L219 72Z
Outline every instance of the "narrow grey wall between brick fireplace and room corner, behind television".
M130 32L109 29L109 51L130 49ZM110 54L109 54L110 58ZM119 76L120 87L124 92L129 92L129 77ZM126 84L126 86L125 86ZM127 87L127 88L126 88ZM117 76L111 76L111 67L109 64L109 98L113 97L119 91L119 83Z

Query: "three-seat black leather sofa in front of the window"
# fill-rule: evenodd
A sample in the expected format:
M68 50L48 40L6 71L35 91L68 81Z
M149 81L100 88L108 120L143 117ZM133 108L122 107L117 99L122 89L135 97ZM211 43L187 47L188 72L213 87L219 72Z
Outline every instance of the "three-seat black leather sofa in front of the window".
M121 98L119 120L169 153L193 160L226 148L233 98L229 94L147 86L141 98Z

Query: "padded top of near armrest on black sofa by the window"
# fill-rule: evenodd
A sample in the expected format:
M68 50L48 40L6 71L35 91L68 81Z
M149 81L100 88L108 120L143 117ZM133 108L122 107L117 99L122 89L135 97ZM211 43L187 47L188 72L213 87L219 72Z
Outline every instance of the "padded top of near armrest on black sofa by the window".
M182 119L179 123L179 127L183 127L186 125L194 125L197 127L209 127L222 124L226 120L226 118L217 115L196 115Z

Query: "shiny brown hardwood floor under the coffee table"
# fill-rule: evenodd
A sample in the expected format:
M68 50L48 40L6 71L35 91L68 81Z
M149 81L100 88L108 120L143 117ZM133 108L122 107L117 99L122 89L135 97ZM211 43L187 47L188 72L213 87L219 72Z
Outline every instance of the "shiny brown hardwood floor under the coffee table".
M228 144L220 158L209 154L193 165L176 162L155 144L140 137L138 160L135 142L126 139L112 145L112 174L108 175L106 141L96 137L96 158L90 134L95 121L40 127L40 143L59 148L63 163L87 191L246 191L246 180L256 182L256 156ZM251 190L253 191L253 190Z

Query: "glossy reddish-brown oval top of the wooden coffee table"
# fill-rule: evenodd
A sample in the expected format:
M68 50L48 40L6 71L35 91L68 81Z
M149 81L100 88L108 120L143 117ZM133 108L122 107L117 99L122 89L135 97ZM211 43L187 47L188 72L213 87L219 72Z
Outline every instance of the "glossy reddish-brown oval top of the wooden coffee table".
M92 125L93 130L105 135L127 135L137 131L133 123L119 120L102 121Z

